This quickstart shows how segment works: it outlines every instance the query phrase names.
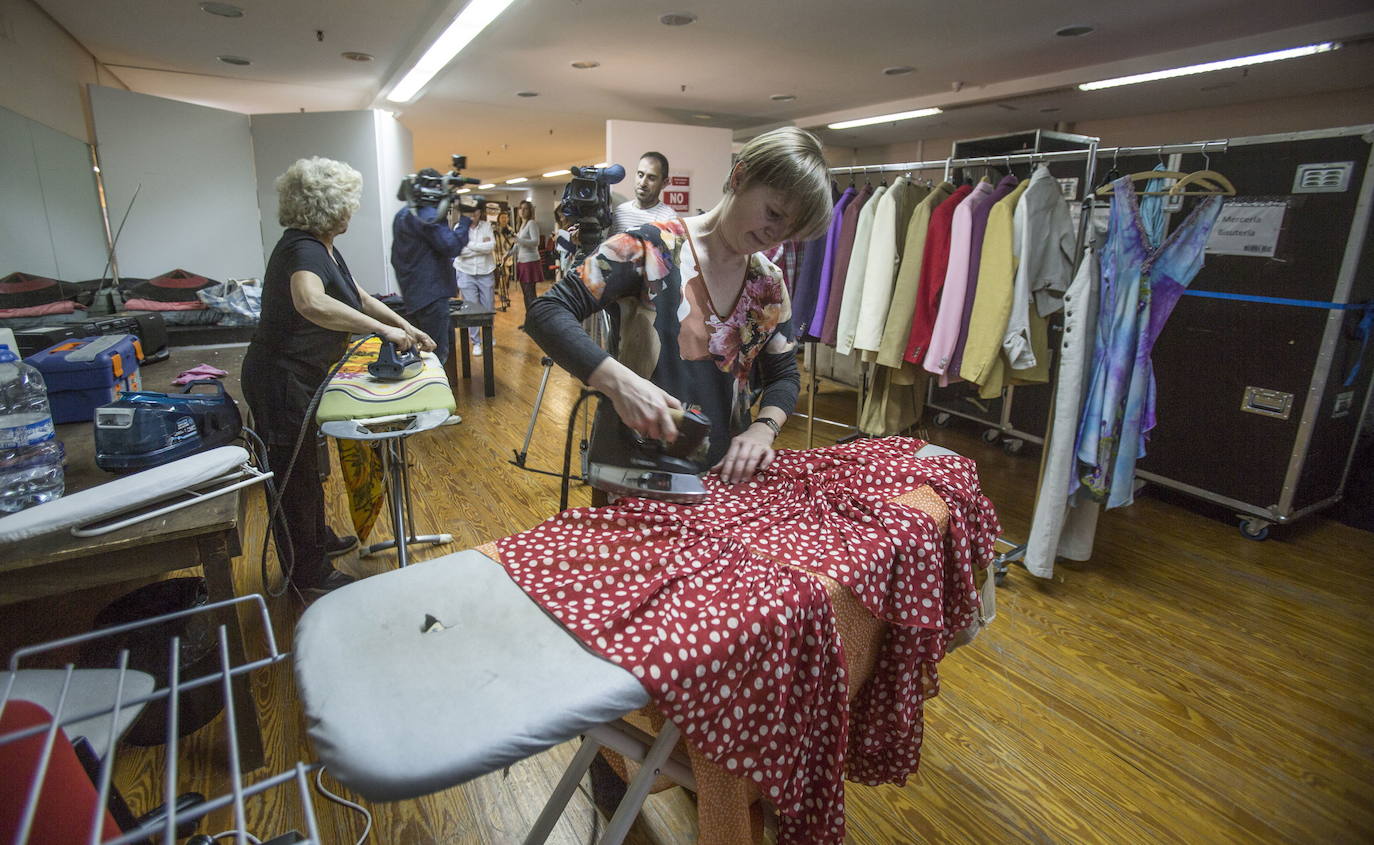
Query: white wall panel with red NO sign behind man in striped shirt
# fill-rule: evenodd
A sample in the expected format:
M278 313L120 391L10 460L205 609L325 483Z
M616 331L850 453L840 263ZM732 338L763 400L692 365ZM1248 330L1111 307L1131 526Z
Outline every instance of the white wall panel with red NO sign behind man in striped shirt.
M691 174L692 212L709 209L720 202L730 176L731 135L730 129L709 126L606 121L606 161L625 168L625 181L611 191L632 198L639 157L657 150L668 157L669 174Z

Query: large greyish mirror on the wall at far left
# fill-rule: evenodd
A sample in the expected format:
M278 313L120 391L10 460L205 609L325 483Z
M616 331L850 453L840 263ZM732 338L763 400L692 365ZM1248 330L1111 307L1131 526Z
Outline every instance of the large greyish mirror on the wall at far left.
M84 282L107 258L91 147L0 109L0 278Z

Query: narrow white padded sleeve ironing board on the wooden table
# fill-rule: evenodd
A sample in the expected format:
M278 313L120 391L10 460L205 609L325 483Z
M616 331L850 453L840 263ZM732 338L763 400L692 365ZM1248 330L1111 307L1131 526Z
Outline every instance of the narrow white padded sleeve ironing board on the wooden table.
M213 481L247 463L242 447L217 447L198 455L133 473L93 488L0 517L0 548L49 532L87 525L104 517L161 502L168 493Z

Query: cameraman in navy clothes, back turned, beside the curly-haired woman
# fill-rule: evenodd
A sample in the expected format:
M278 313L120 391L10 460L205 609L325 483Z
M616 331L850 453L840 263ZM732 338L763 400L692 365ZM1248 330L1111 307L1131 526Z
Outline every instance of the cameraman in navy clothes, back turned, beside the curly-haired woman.
M416 173L425 181L437 183L441 174L434 168ZM469 243L471 221L460 217L458 229L448 221L449 196L438 203L423 199L408 203L392 221L392 267L401 286L401 301L411 324L434 338L434 354L448 360L453 346L448 304L458 293L453 258Z

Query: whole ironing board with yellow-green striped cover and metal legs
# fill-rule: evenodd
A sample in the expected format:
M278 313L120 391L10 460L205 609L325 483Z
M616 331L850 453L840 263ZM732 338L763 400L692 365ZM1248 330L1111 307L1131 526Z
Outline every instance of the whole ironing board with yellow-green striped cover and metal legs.
M442 545L453 541L452 534L415 533L405 441L414 434L444 425L456 404L442 364L427 352L422 354L423 370L412 378L398 382L372 378L367 365L376 360L381 345L379 338L370 338L349 353L324 387L315 419L320 423L320 431L328 437L361 441L379 452L394 539L372 543L363 554L396 548L400 566L404 567L409 563L409 545Z

